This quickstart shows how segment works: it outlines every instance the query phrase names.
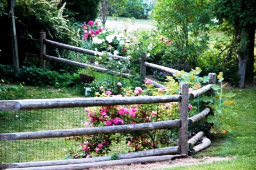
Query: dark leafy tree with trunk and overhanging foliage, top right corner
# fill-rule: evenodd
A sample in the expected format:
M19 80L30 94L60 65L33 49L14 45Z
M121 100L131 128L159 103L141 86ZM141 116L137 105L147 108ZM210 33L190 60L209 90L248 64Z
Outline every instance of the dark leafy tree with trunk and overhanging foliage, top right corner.
M254 42L256 28L256 1L255 0L217 0L214 9L218 19L226 19L233 25L238 43L238 74L239 87L245 87L245 77L254 75Z

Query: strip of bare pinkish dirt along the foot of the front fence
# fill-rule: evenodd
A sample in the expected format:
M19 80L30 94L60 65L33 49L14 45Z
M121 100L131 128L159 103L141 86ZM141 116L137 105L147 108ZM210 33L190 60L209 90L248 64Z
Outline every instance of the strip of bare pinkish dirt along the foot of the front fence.
M174 167L181 167L181 166L190 166L190 165L199 165L199 164L209 164L214 163L216 161L226 161L231 160L231 157L202 157L202 158L192 158L191 156L182 159L175 159L170 161L161 161L157 163L147 163L147 164L131 164L131 165L120 165L114 167L102 167L102 168L93 168L97 170L110 170L110 169L165 169L165 168L174 168Z

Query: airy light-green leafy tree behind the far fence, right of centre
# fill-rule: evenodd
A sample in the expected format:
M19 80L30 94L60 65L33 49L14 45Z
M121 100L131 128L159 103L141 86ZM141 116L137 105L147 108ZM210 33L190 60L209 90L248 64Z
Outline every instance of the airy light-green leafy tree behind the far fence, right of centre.
M157 27L170 42L169 62L190 63L197 66L197 58L208 48L207 23L210 21L208 1L163 0L154 6Z

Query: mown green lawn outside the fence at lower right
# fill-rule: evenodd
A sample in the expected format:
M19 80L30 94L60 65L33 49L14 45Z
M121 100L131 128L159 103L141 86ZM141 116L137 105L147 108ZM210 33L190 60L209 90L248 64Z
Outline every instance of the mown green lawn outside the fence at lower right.
M236 112L234 118L224 123L231 127L230 132L218 135L210 148L197 153L194 157L203 156L229 156L229 161L212 164L194 165L171 169L255 169L256 168L256 87L248 89L227 90L236 94L235 106L231 108Z

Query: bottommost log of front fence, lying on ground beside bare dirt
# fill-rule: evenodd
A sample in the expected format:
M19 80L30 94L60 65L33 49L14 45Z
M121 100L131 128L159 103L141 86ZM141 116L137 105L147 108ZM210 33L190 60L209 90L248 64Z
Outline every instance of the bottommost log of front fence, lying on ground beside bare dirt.
M96 163L81 163L81 164L70 164L70 165L53 165L46 167L31 167L31 168L10 168L9 170L31 170L31 169L89 169L89 168L97 168L97 167L109 167L116 165L127 165L127 164L137 164L137 163L152 163L157 161L166 161L171 160L174 157L181 157L181 155L162 155L162 156L148 156L148 157L140 157L131 158L131 159L120 159L120 160L110 160L110 161L100 161Z

